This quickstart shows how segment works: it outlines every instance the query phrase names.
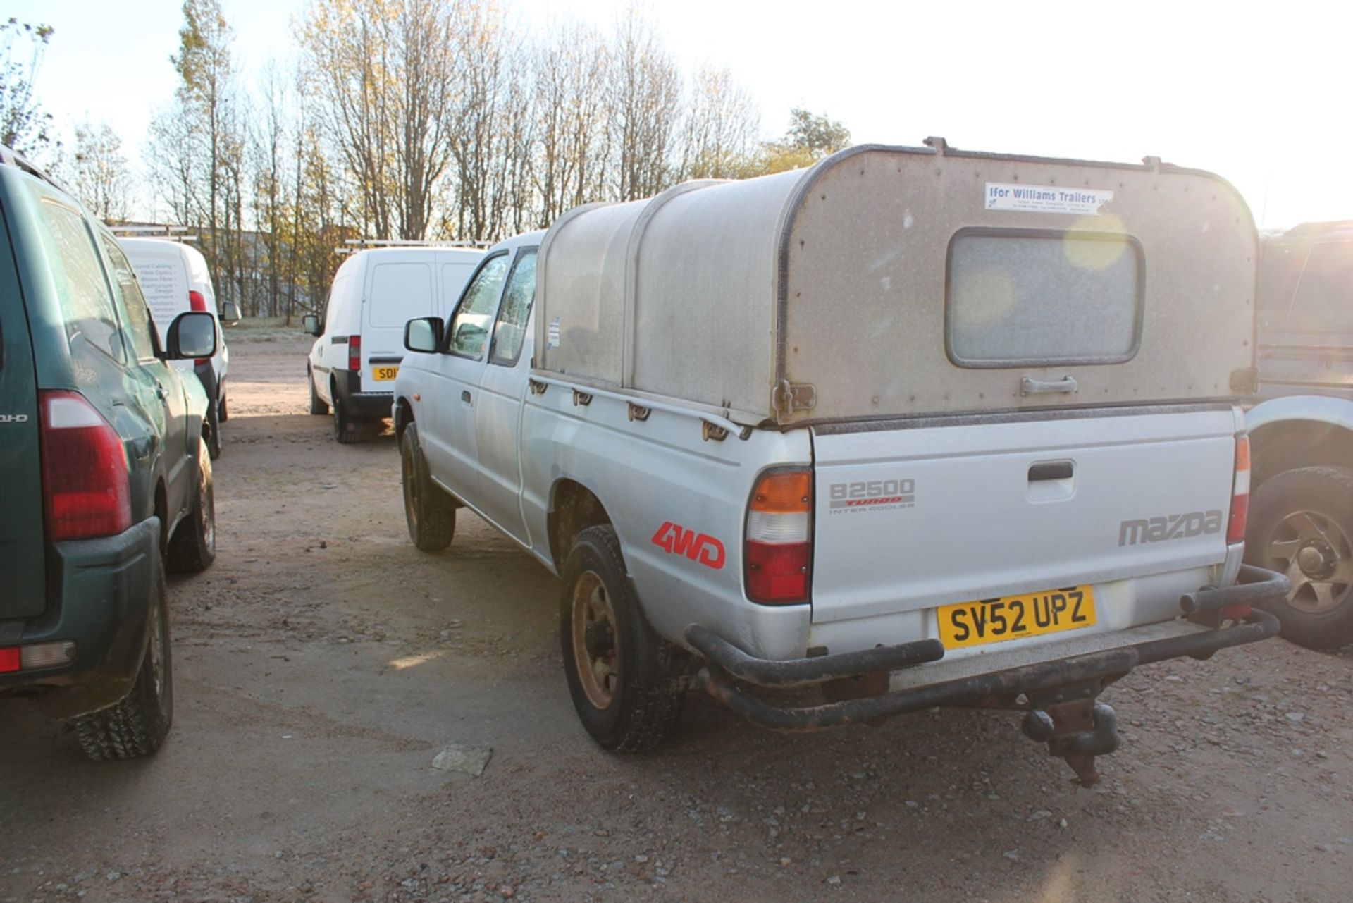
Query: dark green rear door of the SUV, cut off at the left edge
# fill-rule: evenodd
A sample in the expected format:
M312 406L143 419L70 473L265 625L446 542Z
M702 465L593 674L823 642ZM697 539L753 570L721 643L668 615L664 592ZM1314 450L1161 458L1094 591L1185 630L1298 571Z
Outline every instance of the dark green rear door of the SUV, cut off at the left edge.
M38 378L23 292L0 221L0 621L46 607Z

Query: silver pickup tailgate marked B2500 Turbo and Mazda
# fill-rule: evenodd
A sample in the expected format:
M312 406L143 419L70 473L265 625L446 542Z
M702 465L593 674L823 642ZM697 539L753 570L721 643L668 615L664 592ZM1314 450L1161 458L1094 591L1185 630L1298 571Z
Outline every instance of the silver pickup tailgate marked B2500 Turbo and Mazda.
M924 422L813 431L815 621L1226 558L1230 408Z

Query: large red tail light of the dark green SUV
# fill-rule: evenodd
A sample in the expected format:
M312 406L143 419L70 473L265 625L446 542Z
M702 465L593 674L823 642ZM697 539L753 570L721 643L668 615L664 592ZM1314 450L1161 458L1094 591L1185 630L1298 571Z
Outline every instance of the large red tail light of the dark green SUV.
M115 536L131 527L122 437L84 395L38 393L47 539Z

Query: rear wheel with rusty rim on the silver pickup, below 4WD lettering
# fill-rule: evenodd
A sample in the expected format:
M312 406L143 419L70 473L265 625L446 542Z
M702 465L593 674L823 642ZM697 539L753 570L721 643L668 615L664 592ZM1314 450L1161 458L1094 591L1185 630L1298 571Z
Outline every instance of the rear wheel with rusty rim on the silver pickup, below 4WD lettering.
M602 749L636 753L659 746L686 697L686 655L640 611L616 529L601 525L578 533L563 579L559 635L579 720Z

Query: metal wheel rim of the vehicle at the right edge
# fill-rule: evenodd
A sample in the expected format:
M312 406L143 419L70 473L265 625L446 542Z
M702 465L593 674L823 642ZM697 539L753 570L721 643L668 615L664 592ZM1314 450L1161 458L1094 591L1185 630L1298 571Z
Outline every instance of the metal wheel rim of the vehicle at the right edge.
M1288 514L1268 543L1269 565L1287 574L1287 602L1308 615L1344 605L1353 590L1353 543L1339 525L1318 512Z

